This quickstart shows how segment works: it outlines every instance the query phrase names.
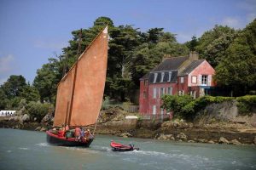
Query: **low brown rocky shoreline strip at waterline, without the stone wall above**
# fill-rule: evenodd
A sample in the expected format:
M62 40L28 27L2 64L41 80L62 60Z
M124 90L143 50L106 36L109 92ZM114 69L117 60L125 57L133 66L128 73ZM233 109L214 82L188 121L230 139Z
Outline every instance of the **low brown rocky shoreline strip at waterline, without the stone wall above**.
M118 109L102 111L96 134L111 134L124 138L143 138L207 144L253 144L256 145L256 127L235 122L184 122L172 120L125 120L129 113ZM29 121L29 116L5 117L0 127L36 130L44 132L52 127L53 114L42 122ZM93 127L91 127L93 128Z

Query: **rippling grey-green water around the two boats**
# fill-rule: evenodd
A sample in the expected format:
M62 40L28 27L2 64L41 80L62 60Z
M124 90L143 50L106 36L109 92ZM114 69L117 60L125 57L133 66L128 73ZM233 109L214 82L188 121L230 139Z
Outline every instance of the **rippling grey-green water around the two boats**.
M110 140L140 150L113 152ZM90 148L46 143L46 134L0 128L0 169L256 169L256 146L191 144L97 135Z

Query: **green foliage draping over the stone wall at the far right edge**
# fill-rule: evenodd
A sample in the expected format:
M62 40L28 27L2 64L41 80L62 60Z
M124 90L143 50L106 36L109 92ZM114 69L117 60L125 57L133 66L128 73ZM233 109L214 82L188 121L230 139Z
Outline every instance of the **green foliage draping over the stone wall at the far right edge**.
M252 115L256 111L256 95L246 95L236 98L240 115Z

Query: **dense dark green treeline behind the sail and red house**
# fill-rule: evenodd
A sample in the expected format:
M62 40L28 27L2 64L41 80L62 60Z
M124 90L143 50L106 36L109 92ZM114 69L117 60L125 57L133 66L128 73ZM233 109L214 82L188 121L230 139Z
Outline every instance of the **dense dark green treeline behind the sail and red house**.
M134 26L114 26L108 17L95 20L92 27L82 29L81 50L79 32L63 48L63 54L49 58L37 71L31 84L22 76L11 76L0 87L0 109L17 108L20 99L29 102L55 103L57 83L71 68L79 54L108 25L110 35L108 72L105 96L124 101L132 99L139 88L139 78L158 65L165 56L188 55L197 51L215 68L218 86L229 89L234 96L255 93L256 87L256 20L245 29L215 26L201 37L178 43L176 35L163 28L139 31ZM22 100L24 102L24 100Z

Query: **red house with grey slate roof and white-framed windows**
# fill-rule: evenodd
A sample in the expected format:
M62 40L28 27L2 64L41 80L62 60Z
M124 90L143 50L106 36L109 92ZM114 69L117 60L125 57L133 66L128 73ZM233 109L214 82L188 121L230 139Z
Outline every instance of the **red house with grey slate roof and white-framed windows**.
M143 115L169 114L160 108L164 94L189 94L194 98L208 94L215 86L215 71L206 59L189 56L166 58L140 79L139 112Z

